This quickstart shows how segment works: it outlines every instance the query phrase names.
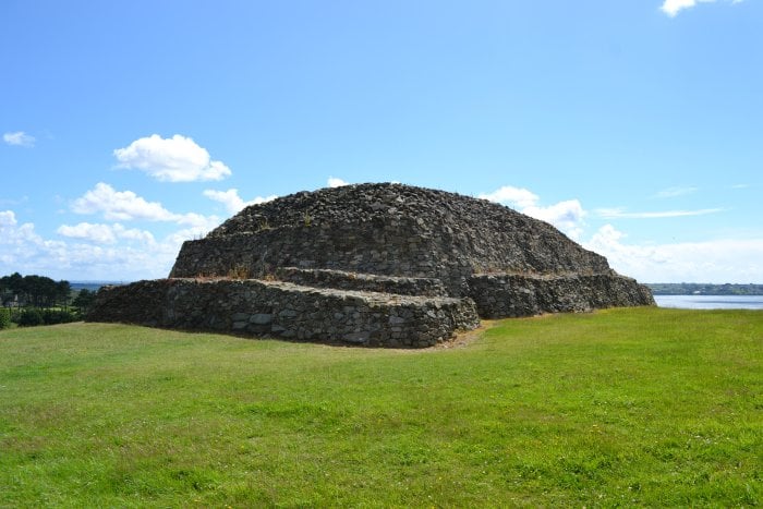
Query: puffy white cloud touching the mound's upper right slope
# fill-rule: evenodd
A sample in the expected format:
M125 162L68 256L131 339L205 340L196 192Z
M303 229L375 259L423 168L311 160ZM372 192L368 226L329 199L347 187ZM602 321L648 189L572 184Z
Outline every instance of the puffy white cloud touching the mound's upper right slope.
M541 198L535 193L511 185L505 185L492 193L483 193L479 197L508 205L530 217L549 222L572 238L577 239L582 233L585 210L578 199L567 199L542 207L538 205Z

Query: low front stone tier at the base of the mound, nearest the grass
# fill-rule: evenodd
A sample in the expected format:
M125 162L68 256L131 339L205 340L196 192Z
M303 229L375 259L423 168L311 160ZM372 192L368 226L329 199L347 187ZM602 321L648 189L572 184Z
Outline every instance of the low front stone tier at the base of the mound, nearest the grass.
M107 287L88 319L389 348L431 347L480 323L471 299L230 279Z

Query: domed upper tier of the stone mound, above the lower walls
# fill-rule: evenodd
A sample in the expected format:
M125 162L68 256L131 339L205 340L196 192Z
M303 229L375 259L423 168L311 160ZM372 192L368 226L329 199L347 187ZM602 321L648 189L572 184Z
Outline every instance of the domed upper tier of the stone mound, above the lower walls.
M486 271L602 274L606 258L550 225L484 199L401 184L296 193L245 208L183 244L171 277L278 267L436 278L455 296Z

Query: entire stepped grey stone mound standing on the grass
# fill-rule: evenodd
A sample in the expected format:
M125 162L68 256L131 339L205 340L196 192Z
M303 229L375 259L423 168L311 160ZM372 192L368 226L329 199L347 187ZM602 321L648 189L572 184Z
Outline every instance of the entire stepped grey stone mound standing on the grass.
M99 292L90 320L426 347L484 318L654 305L553 226L401 184L253 205L183 244L167 280Z

